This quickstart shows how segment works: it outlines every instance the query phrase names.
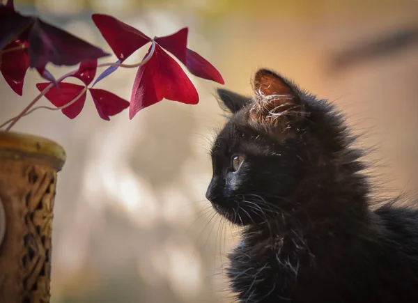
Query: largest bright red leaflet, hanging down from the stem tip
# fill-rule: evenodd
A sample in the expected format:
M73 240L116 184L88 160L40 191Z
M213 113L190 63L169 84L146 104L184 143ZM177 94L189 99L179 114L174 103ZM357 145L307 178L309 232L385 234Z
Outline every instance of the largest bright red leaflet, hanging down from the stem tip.
M138 69L135 77L130 103L130 119L141 109L163 98L186 104L199 102L196 88L180 65L159 45L155 45L153 56Z

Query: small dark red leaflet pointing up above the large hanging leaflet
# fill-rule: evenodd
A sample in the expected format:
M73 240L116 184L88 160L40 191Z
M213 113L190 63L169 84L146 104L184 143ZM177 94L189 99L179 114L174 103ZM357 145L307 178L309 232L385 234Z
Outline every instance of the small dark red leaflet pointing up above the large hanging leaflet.
M173 33L170 36L155 38L155 42L157 42L161 47L164 47L164 49L167 49L169 52L171 52L171 54L176 56L178 60L186 65L188 32L189 29L185 27L184 29L180 29L180 31Z

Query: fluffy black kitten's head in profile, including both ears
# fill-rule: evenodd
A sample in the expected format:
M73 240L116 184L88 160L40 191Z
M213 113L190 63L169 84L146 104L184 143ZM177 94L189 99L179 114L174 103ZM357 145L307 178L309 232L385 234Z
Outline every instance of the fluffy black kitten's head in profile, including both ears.
M232 116L212 147L206 193L217 212L240 225L299 208L297 195L346 146L325 102L270 70L256 72L253 82L252 98L218 91Z

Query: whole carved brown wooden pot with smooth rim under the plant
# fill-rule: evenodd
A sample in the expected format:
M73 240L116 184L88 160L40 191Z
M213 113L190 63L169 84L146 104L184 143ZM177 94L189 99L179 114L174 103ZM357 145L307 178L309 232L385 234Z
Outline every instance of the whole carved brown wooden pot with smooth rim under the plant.
M0 302L49 302L51 236L61 146L0 132Z

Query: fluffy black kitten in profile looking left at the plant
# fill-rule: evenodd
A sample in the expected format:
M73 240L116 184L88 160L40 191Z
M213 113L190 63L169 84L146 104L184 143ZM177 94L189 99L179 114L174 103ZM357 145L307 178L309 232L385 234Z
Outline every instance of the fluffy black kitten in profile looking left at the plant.
M206 196L244 226L228 270L239 302L418 302L417 210L369 208L341 115L269 70L253 98L219 96L233 115Z

